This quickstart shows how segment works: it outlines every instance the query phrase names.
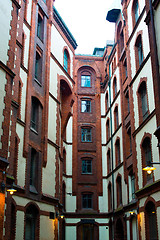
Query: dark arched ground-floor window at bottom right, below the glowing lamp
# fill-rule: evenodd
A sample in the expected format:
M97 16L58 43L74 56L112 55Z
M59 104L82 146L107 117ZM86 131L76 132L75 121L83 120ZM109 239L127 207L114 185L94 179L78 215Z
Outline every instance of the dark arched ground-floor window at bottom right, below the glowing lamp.
M145 218L146 239L158 240L157 214L152 201L149 201L145 207Z

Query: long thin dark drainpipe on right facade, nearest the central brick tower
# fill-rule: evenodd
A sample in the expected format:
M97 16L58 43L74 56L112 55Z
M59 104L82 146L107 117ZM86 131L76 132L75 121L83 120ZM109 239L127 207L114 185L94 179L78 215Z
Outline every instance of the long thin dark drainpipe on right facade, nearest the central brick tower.
M109 69L110 70L110 69ZM112 240L114 240L114 165L113 165L113 132L112 132L112 109L111 109L111 78L109 73L109 104L110 104L110 132L111 132L111 163L112 163L112 208L113 208L113 222L112 222Z

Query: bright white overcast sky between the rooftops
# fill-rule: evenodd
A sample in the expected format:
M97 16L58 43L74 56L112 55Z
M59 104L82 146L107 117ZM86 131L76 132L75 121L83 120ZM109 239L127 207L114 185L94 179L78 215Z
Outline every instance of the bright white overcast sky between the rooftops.
M92 54L114 40L115 24L106 20L114 0L55 0L54 6L75 38L76 54Z

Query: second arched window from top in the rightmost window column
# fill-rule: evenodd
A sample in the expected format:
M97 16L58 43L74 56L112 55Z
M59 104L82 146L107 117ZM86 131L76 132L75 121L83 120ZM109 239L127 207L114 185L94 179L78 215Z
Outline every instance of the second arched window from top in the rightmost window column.
M137 40L136 40L135 55L136 55L136 66L137 66L137 69L138 69L143 62L143 47L142 47L141 34L139 34L139 36L137 37Z

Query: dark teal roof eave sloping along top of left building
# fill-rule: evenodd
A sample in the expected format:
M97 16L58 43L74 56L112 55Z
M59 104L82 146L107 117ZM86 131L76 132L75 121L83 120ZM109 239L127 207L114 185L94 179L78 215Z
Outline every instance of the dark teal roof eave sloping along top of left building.
M69 31L67 25L65 24L65 22L63 21L63 19L61 18L60 14L59 14L59 12L57 11L57 9L54 6L53 6L53 17L75 50L78 46L76 43L76 40L73 37L72 33Z

